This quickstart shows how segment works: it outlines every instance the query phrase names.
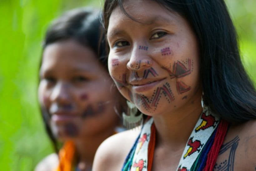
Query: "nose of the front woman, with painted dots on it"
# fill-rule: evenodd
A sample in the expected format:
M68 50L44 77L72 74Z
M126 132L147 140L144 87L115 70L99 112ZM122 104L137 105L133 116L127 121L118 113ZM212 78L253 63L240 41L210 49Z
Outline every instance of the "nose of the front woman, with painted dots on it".
M148 56L148 47L139 46L133 50L130 60L126 67L130 70L140 70L148 68L152 65L152 59Z

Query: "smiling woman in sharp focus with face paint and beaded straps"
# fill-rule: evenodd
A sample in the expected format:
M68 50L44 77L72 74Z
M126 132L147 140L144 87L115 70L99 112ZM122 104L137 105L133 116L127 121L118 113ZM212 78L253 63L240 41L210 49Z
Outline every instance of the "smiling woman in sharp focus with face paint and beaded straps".
M103 14L110 75L148 117L93 170L255 170L256 92L224 0L105 0Z

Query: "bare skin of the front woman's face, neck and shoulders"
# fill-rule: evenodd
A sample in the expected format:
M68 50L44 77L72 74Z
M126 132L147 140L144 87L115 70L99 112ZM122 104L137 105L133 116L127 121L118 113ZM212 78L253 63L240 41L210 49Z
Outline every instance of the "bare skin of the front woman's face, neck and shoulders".
M154 118L156 145L152 170L176 170L190 133L202 112L198 42L193 30L183 17L168 11L154 1L124 1L124 7L126 12L137 21L123 14L119 7L112 11L107 30L110 46L109 72L116 83L116 80L124 80L120 78L125 76L126 79L122 84L118 82L119 85L121 84L119 88L121 94L134 102L142 113ZM139 49L139 45L148 47L147 51ZM162 55L161 50L166 47L170 47L171 53ZM111 66L113 59L119 60L118 66ZM139 62L144 61L150 61L150 65L136 67ZM180 69L183 66L185 69ZM150 67L154 68L157 75L149 74L143 77L143 72ZM134 76L134 72L139 78ZM138 91L137 85L149 81L158 82L150 88L144 87L143 91ZM165 96L168 91L163 88L164 85L167 86L170 96ZM157 92L158 88L162 95L157 98L158 104L153 106L156 97L154 92ZM150 101L151 98L152 101ZM249 128L245 126L240 129L241 125L229 128L224 144L232 141L236 136L240 138L234 156L234 170L239 168L241 170L243 167L250 168L249 170L255 168L252 162L249 162L252 159L244 160L252 156L251 152L247 150L247 153L244 153L243 150L238 150L238 148L244 149L250 146L256 151L255 145L251 144L255 142L255 136L245 133L246 130L255 130L255 125L255 122L252 122ZM254 132L252 131L251 134L255 135ZM245 136L252 138L246 141ZM134 135L130 132L122 132L107 139L96 153L93 170L102 170L102 166L106 170L120 170L129 151L126 151L126 148L131 148L134 139ZM124 141L126 144L119 146ZM116 151L114 148L117 147L125 150ZM218 157L217 163L228 159L229 153L230 150L224 151L222 156ZM106 158L105 156L108 155L113 158ZM244 158L241 159L239 155ZM248 165L245 166L242 162L236 163L238 160L243 160Z

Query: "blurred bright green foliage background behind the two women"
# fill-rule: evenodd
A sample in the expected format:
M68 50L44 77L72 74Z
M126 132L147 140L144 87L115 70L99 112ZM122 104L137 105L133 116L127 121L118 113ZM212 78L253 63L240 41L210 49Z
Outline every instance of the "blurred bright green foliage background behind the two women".
M244 65L256 83L256 1L226 0ZM0 0L0 167L30 171L53 152L37 103L39 59L49 22L101 0ZM255 84L256 85L256 84Z

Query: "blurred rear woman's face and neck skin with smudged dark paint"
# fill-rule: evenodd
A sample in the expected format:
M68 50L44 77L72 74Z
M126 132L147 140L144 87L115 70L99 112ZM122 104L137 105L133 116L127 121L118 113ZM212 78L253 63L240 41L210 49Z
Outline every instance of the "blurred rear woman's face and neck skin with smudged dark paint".
M81 170L91 168L100 143L113 135L120 109L113 81L96 54L74 40L48 45L42 58L38 97L61 141L75 142Z

